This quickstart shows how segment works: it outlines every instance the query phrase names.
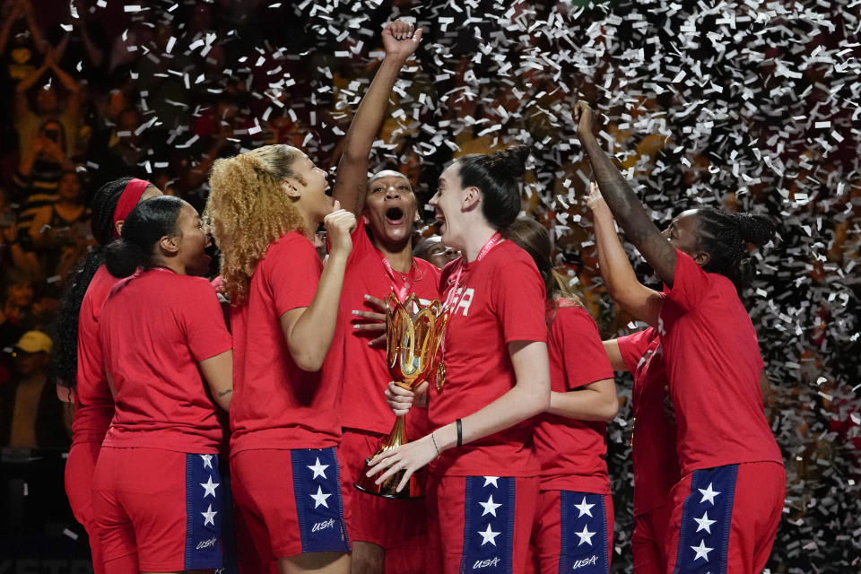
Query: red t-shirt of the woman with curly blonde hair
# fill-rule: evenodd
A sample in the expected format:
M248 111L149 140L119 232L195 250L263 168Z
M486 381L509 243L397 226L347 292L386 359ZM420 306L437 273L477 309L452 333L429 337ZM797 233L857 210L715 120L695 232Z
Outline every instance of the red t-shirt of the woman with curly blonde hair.
M341 381L296 366L281 327L284 313L311 304L322 272L309 239L298 231L285 233L257 264L248 300L231 307L231 454L328 448L341 438Z

